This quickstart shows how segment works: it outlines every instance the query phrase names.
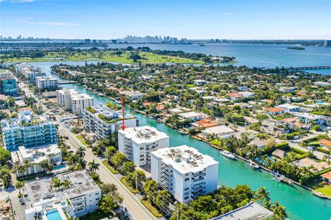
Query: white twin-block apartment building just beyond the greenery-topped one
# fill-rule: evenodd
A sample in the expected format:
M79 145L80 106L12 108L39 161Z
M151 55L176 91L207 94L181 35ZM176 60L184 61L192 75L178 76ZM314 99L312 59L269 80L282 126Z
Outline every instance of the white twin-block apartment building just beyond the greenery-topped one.
M76 90L58 90L57 99L59 106L71 110L73 114L83 114L84 108L93 106L93 98L88 94L79 94Z

